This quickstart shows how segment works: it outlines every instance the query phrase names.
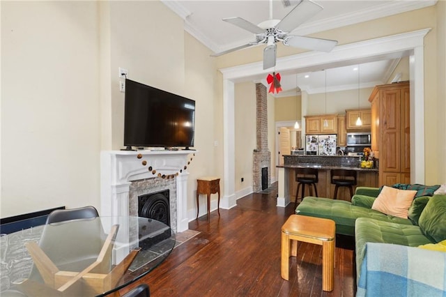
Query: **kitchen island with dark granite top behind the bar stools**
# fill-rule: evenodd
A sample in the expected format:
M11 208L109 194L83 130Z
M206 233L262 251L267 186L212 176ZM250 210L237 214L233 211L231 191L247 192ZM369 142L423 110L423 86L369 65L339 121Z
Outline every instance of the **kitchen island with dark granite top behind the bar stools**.
M279 189L277 206L286 206L295 201L298 183L295 181L295 169L318 169L318 197L332 198L334 185L331 184L331 169L351 169L357 172L357 186L377 187L378 169L361 168L360 157L344 155L284 155L284 165L277 166L279 173ZM305 187L305 196L309 195L309 187ZM300 195L299 195L300 197ZM341 187L338 199L350 201L348 188Z

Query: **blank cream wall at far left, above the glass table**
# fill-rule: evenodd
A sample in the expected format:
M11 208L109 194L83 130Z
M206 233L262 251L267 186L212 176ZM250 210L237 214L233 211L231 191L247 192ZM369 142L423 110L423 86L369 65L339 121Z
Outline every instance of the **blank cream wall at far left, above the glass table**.
M1 1L1 217L99 204L98 6Z

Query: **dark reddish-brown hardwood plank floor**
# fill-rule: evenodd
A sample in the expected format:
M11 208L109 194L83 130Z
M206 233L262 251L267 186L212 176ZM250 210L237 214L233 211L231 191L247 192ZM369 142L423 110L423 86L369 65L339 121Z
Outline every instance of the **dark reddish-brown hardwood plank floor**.
M277 185L276 185L277 186ZM174 249L166 261L135 283L151 296L354 296L353 250L336 248L334 290L322 291L322 247L298 245L290 259L290 279L280 277L282 224L294 204L276 206L275 186L253 193L237 206L189 223L201 233ZM343 243L337 239L337 245ZM297 266L297 268L296 268ZM123 289L121 293L128 291Z

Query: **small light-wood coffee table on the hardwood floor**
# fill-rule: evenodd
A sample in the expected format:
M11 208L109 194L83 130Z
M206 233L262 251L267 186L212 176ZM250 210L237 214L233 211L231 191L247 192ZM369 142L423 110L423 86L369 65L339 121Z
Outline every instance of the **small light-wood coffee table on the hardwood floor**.
M282 226L282 278L289 280L289 258L297 256L298 241L322 245L322 289L332 291L335 233L336 226L333 220L291 215Z

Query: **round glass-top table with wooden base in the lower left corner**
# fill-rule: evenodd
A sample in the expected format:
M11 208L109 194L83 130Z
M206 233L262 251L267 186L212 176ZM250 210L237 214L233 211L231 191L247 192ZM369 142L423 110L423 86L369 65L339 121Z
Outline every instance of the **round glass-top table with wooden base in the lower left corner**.
M0 296L105 296L143 277L175 246L167 224L98 217L0 237Z

